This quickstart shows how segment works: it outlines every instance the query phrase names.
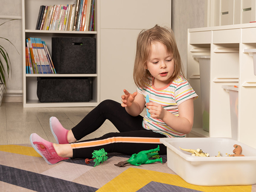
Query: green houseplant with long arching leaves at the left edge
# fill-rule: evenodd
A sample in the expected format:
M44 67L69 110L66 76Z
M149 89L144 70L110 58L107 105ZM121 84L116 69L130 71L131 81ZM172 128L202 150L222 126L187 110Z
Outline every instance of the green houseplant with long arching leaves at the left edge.
M16 20L16 19L12 19L12 20ZM11 21L11 20L8 20L6 22L9 22L9 21ZM4 22L4 23L6 23L6 22ZM3 25L4 23L1 23L0 26ZM0 37L0 39L9 41L9 39L3 38L3 37ZM9 43L12 44L11 41L9 41ZM12 45L14 46L14 44L12 44ZM15 47L15 49L16 49L16 47ZM17 52L18 52L18 50L17 50ZM8 55L6 49L1 45L1 42L0 42L0 106L1 106L1 103L3 100L3 92L4 92L4 90L7 90L6 81L9 78L10 70L11 70L11 61L10 61L9 55ZM6 75L7 75L7 78L6 78Z

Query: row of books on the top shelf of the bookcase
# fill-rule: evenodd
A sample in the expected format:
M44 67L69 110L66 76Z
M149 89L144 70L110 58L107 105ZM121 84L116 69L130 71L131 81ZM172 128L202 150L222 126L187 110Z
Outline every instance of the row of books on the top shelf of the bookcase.
M40 6L36 30L95 31L95 0L76 0L76 4Z

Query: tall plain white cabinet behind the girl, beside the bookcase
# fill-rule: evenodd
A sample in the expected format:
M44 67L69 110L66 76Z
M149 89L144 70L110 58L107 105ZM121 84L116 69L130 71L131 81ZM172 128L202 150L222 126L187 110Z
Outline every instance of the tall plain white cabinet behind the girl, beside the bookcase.
M136 91L133 68L137 36L156 24L170 27L171 6L171 0L101 1L101 101L121 102L123 89Z

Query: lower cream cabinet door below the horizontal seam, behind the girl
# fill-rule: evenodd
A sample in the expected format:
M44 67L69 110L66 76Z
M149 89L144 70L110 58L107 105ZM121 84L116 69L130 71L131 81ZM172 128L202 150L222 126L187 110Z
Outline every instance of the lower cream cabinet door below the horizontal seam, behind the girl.
M130 29L101 30L101 101L121 102L123 89L136 91L133 68L139 33Z

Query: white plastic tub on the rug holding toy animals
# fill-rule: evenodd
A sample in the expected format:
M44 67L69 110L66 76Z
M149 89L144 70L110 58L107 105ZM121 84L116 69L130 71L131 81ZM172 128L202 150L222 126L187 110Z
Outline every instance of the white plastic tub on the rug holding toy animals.
M201 186L253 185L256 183L256 149L229 138L161 138L167 147L167 165L183 180ZM241 145L245 157L233 154ZM210 157L195 157L181 150L202 149ZM222 157L212 157L221 152Z

